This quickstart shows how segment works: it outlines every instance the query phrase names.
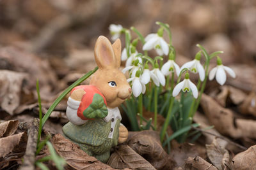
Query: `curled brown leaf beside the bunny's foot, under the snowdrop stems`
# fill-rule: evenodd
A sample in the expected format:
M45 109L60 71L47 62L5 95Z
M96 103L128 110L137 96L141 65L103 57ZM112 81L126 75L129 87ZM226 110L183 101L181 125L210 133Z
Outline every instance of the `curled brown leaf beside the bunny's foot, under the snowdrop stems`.
M163 150L156 131L136 132L128 139L128 145L156 169L172 169L175 164L172 157Z

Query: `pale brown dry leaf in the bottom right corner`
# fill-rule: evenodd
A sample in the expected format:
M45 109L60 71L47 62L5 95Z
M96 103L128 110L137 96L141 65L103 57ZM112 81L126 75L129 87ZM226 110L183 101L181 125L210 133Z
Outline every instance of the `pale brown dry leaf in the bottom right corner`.
M251 146L248 150L238 153L232 159L232 169L245 170L256 169L256 145Z

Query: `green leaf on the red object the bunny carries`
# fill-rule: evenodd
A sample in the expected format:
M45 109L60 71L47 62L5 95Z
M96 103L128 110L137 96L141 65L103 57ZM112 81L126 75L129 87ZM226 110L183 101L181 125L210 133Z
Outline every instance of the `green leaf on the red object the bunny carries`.
M108 108L100 94L94 94L92 103L83 111L86 118L104 118L108 115Z

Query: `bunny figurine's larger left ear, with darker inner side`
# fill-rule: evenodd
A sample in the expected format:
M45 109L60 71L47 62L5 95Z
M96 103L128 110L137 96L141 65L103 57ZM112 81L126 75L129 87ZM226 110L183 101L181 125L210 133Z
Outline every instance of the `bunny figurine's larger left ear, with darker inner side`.
M104 36L99 36L94 48L95 61L99 68L116 67L113 47Z

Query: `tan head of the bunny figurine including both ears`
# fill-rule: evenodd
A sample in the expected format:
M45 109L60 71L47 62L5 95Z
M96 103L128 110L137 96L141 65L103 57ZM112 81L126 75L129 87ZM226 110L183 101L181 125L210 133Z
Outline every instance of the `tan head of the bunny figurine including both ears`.
M97 87L106 97L109 108L115 108L131 96L131 87L125 75L119 70L120 39L111 45L108 38L100 36L95 44L94 53L99 69L93 74L90 85Z

